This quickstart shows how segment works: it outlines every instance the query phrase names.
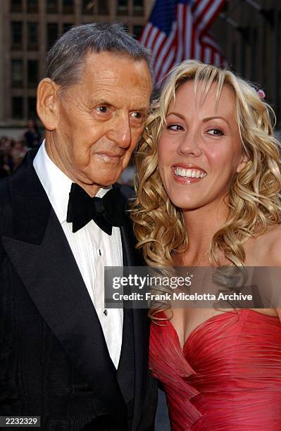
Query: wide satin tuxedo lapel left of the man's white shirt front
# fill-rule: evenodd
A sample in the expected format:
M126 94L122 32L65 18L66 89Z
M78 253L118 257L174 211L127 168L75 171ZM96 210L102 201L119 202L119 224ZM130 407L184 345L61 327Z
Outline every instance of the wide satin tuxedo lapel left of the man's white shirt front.
M32 165L11 177L13 237L6 253L39 313L101 403L126 427L126 406L87 288L62 227Z

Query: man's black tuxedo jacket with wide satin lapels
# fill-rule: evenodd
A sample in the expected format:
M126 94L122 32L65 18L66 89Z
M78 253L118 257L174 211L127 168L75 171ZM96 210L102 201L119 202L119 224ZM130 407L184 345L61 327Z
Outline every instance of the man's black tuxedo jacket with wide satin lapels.
M116 371L35 154L0 182L0 415L41 416L47 431L151 430L146 310L124 310ZM121 237L124 265L142 265L129 220Z

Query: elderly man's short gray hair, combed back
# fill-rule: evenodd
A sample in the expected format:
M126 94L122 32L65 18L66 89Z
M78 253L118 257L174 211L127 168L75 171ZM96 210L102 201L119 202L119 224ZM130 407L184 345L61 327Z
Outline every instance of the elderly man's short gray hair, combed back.
M125 32L122 24L92 23L73 27L56 41L46 56L45 77L61 87L77 84L85 55L91 51L109 51L135 61L144 60L151 72L149 51Z

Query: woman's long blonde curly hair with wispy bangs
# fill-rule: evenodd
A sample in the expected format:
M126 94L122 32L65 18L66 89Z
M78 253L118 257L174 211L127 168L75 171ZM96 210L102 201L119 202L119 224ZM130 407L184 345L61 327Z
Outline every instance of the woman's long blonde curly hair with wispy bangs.
M180 85L188 80L194 81L195 94L200 83L204 96L215 83L217 103L224 85L236 96L239 135L249 161L230 185L227 223L213 236L209 258L211 265L218 266L216 250L220 249L225 258L241 267L246 239L280 223L280 143L273 136L275 115L248 82L230 70L198 61L185 61L171 71L146 121L136 154L137 199L132 202L130 214L137 248L142 248L149 266L170 267L172 251L185 241L182 211L171 203L158 173L157 143L168 106Z

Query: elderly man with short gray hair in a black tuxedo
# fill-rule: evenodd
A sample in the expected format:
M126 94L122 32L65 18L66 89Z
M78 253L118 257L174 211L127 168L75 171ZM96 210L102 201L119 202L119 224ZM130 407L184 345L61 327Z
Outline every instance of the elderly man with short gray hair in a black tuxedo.
M104 266L138 265L122 189L149 109L149 56L118 24L65 33L37 111L46 141L0 182L0 415L42 430L150 430L143 310L104 308Z

